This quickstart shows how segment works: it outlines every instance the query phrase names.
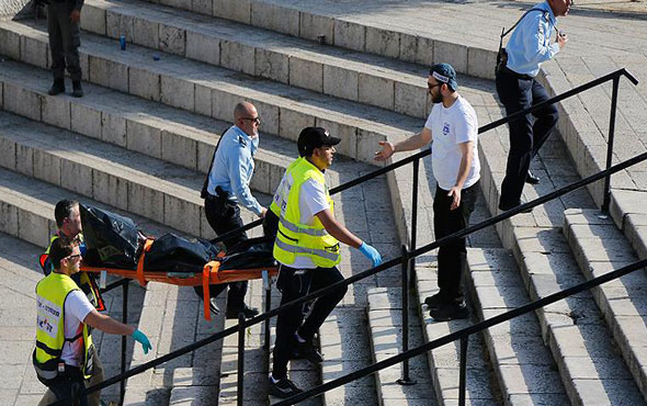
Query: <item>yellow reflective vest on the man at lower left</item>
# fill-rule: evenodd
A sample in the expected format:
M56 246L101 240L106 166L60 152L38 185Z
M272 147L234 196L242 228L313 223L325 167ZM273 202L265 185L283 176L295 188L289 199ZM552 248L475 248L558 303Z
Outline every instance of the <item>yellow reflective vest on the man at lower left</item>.
M72 279L52 272L36 285L36 349L32 356L38 379L46 383L58 375L60 354L66 341L83 340L81 372L86 379L92 374L92 336L88 325L76 337L65 337L65 301L72 291L79 291Z

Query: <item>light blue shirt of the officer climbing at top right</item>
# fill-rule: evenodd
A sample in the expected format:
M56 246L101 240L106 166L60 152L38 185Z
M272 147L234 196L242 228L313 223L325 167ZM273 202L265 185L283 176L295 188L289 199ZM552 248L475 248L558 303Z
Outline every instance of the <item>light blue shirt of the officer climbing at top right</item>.
M557 21L548 2L533 7L542 11L531 11L512 32L506 50L507 67L521 75L537 76L542 63L559 52L557 43L550 43L550 36Z

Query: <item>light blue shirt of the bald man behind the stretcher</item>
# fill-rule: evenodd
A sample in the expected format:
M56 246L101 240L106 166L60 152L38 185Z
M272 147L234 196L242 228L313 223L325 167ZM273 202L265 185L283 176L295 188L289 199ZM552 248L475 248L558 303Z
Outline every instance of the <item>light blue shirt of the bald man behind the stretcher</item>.
M229 200L260 215L263 206L249 190L258 147L259 137L252 138L235 125L227 129L209 170L207 192L216 195L216 188L220 187L229 193Z

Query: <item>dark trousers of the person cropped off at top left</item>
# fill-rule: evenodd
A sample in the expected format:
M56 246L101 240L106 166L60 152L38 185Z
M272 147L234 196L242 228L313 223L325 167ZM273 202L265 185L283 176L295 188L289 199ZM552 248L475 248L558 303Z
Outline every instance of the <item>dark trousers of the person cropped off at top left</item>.
M66 66L73 81L81 80L79 23L70 21L73 8L75 1L71 0L50 0L47 7L47 33L55 80L64 79Z

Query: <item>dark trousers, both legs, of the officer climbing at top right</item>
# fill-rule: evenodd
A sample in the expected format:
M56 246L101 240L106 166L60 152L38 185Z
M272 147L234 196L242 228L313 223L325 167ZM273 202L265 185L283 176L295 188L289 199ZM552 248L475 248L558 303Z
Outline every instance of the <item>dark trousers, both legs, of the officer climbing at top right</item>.
M544 87L535 79L521 78L507 70L497 75L497 92L508 115L549 99ZM550 104L508 124L510 153L501 184L501 206L512 207L521 203L530 161L555 128L557 120L557 109Z

